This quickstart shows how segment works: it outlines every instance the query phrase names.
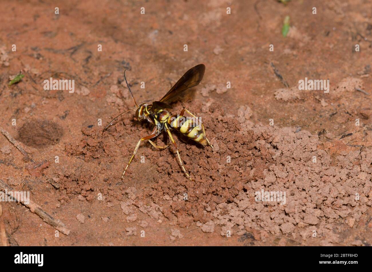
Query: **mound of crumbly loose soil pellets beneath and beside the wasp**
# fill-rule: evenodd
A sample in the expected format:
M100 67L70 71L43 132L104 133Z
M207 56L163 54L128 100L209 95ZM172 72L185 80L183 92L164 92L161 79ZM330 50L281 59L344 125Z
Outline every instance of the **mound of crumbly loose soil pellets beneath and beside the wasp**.
M192 110L198 107L201 105ZM118 180L120 173L109 178L120 183L121 195L115 198L121 200L126 221L137 223L138 213L144 213L159 223L169 220L170 225L182 228L196 224L204 232L218 231L222 236L250 233L265 241L269 234L290 234L293 239L323 237L323 245L340 242L334 223L352 227L372 204L372 152L340 150L331 154L318 135L253 125L251 115L249 107L242 107L238 116L226 117L214 104L203 114L214 149L179 142L181 157L195 181L185 178L169 150L142 146L124 182ZM128 128L141 126L126 123ZM142 126L146 128L146 124ZM103 146L122 130L125 127L118 122L103 138L98 129L83 129L80 143L67 146L66 151L84 155L85 161L100 158L109 163ZM122 147L124 161L132 148L129 144ZM141 154L156 165L158 175L149 177L145 187L129 187L138 178L138 167L148 167L140 162ZM106 164L100 159L91 167L107 177L108 167L102 168ZM91 178L88 168L66 171L61 189L89 201L97 192L110 197L108 187L94 185Z

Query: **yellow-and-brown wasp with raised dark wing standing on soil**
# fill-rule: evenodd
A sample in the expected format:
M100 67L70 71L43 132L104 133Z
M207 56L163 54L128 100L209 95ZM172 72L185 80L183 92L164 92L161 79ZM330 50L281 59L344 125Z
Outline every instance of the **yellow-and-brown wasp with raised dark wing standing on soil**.
M126 70L125 70L126 71ZM124 172L121 176L122 179L124 179L124 174L126 169L128 169L129 165L131 164L134 156L137 153L138 148L141 145L141 142L148 140L151 145L153 145L157 149L165 149L169 146L159 146L156 145L151 139L157 137L161 132L166 132L169 136L169 139L174 145L174 148L177 153L177 158L180 167L182 168L182 171L186 175L187 178L192 180L190 178L190 175L186 172L185 166L183 165L179 149L177 147L176 141L174 141L171 130L176 130L182 135L187 136L188 138L194 140L195 142L198 142L199 144L206 146L209 145L211 148L213 146L209 142L208 138L205 135L205 129L203 124L200 122L199 118L196 117L194 114L192 114L189 110L183 109L180 114L171 115L167 109L171 109L171 106L167 103L171 99L177 97L178 95L182 94L189 88L195 87L196 85L199 85L199 83L202 81L204 72L205 72L205 65L199 64L195 67L189 69L177 82L174 84L174 86L164 95L163 98L161 98L159 101L154 101L152 104L146 104L142 103L140 106L137 105L136 100L134 99L134 96L132 94L131 88L129 87L128 81L125 77L125 71L124 71L124 79L126 82L126 86L128 87L129 93L131 94L133 98L133 102L135 105L135 109L130 109L122 112L118 116L116 116L112 121L103 129L103 132L107 129L107 127L112 124L114 120L116 120L119 116L121 116L124 113L127 113L129 111L135 111L135 117L137 117L137 120L147 120L151 124L154 125L153 131L150 135L142 137L129 159L128 164L126 165ZM185 117L184 114L188 113L192 118ZM102 132L102 133L103 133Z

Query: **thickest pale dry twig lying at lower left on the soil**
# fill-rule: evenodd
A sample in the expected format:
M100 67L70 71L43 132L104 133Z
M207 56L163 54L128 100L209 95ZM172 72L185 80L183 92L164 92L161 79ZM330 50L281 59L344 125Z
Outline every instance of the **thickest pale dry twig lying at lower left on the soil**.
M4 192L7 191L8 195L10 195L9 192L13 192L13 189L9 185L5 184L4 181L2 181L1 179L0 179L0 190ZM17 200L16 195L12 195L12 197L14 198L15 201L20 202L26 207L28 207L32 213L36 213L38 216L40 216L42 220L44 220L44 222L55 227L57 230L61 231L62 233L66 235L70 233L70 230L65 226L65 224L62 223L61 220L54 219L53 217L51 217L38 204L34 203L31 200L29 201L29 204L25 204L23 201Z

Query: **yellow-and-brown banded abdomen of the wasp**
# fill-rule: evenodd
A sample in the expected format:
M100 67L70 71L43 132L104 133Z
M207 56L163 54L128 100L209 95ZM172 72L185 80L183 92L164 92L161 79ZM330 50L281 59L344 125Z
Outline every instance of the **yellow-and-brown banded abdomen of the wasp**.
M206 145L206 138L203 130L199 126L198 120L188 118L182 115L174 114L170 116L167 123L175 130L178 130L183 135L186 135L195 142Z

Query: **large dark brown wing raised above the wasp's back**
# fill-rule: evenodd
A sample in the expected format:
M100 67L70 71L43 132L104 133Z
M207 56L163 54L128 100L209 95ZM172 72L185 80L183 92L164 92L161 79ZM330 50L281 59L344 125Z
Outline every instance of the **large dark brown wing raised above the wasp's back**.
M177 81L176 84L174 84L169 92L160 99L160 102L170 100L171 98L183 93L188 88L192 88L198 85L203 79L204 72L204 64L199 64L191 68Z

